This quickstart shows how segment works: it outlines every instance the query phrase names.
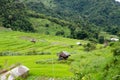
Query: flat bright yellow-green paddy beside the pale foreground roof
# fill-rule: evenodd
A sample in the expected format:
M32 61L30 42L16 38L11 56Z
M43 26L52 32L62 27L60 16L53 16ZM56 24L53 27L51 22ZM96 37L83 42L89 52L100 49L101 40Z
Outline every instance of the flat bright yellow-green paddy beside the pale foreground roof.
M57 61L56 56L54 55L39 55L39 56L5 56L0 57L0 65L8 67L11 64L22 63L28 68L30 68L30 75L32 76L47 76L47 77L68 77L73 76L70 72L70 66L67 64L36 64L38 60L47 60L54 58L54 61ZM7 61L6 64L4 64ZM66 74L64 74L66 73Z

